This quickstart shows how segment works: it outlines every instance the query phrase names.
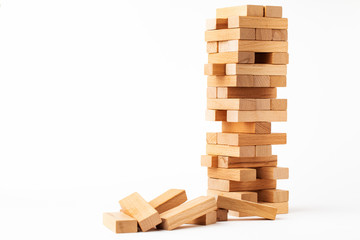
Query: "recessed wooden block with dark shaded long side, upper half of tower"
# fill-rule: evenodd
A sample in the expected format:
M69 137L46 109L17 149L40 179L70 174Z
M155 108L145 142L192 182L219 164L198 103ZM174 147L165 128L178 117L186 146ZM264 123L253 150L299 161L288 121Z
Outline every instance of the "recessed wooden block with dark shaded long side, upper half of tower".
M276 88L218 87L217 98L276 98Z

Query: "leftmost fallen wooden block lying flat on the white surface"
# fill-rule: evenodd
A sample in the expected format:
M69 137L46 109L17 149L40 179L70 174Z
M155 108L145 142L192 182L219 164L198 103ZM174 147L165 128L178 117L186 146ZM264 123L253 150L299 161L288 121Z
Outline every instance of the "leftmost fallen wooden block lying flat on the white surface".
M103 214L103 224L114 233L137 232L137 221L122 212L106 212Z

